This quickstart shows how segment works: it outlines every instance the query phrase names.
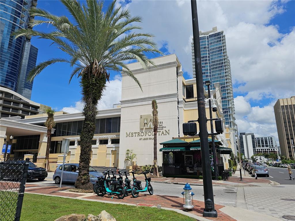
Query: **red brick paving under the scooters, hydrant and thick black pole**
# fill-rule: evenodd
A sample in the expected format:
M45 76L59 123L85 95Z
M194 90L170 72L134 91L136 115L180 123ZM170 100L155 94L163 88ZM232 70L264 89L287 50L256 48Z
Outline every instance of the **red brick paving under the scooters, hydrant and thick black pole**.
M66 189L69 187L62 187L59 188L57 186L46 186L46 187L30 187L25 190L27 193L38 193L38 194L48 194L53 196L62 196L62 197L71 197L76 199L92 199L96 201L111 201L111 202L118 202L118 203L128 203L133 204L136 206L157 206L161 205L161 207L165 208L173 208L177 210L184 210L183 209L183 198L176 197L176 196L165 196L165 195L150 195L150 194L140 194L139 197L133 198L131 195L128 195L127 197L124 197L124 199L118 199L117 196L115 196L112 199L112 196L105 195L103 197L97 196L95 193L73 193ZM72 188L72 187L70 187ZM217 210L218 217L217 218L211 218L206 217L210 220L216 220L216 221L235 221L232 217L228 216L227 214L221 212L219 209L223 208L224 206L215 204L215 209ZM204 210L204 202L199 200L194 200L194 208L191 212L191 214L202 216L202 212Z

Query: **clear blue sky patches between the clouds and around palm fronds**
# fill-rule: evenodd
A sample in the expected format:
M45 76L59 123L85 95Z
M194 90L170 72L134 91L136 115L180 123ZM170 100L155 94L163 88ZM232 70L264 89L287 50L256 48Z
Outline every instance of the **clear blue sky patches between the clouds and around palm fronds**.
M109 3L110 1L106 2L106 4ZM47 9L48 11L56 15L69 16L68 11L66 11L66 9L59 1L38 1L38 7L42 9ZM287 34L291 32L292 27L295 26L294 8L295 1L289 1L287 3L284 3L285 11L281 14L277 14L268 22L268 24L265 25L278 26L278 31L282 34ZM190 13L190 11L188 11L188 13ZM207 30L211 28L211 26L208 26ZM50 29L47 26L40 26L38 27L38 30L47 32ZM165 39L162 40L165 41ZM54 45L49 47L50 43L50 41L44 39L32 38L32 44L39 49L37 63L42 62L48 58L65 56L65 54L60 50L56 49ZM169 53L165 44L163 44L161 50L164 54ZM190 69L189 67L184 68L186 70ZM74 78L72 82L68 84L70 72L71 68L67 64L60 63L47 67L38 77L35 78L31 99L35 102L49 105L55 108L56 110L60 110L63 107L75 105L75 102L81 99L81 90L78 79L76 78ZM114 75L115 74L112 73L112 77L114 77ZM185 72L184 76L186 79L188 79L188 72ZM235 83L233 86L235 88L241 84L243 83ZM247 93L248 92L237 92L237 90L235 90L234 97L240 95L246 96ZM264 98L262 100L250 99L249 103L251 104L251 106L263 107L264 105L270 103L272 99L272 97Z

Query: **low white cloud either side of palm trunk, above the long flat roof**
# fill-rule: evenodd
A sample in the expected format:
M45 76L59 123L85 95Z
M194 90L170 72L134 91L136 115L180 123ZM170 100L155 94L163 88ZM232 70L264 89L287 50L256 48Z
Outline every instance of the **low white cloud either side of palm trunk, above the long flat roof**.
M106 83L106 90L103 92L101 100L97 104L98 110L113 108L113 104L120 103L122 91L122 77L116 75L114 80ZM68 113L82 112L84 103L77 101L74 106L64 107L63 111Z

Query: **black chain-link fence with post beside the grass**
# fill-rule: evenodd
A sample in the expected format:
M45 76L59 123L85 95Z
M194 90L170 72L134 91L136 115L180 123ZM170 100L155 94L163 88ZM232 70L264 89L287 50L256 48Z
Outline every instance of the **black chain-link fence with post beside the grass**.
M0 161L0 220L19 221L30 158Z

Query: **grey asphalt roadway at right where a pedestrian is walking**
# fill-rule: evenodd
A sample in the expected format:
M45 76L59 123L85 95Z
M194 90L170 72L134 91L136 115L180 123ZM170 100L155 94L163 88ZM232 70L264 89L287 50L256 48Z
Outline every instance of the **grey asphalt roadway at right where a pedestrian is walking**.
M281 167L273 167L273 166L267 166L269 177L261 177L263 179L270 179L272 181L276 181L280 184L291 184L295 185L295 180L289 180L289 174L287 168L281 168ZM292 177L295 177L295 169L292 169L293 174ZM247 173L247 171L246 171ZM258 177L259 179L260 177Z

